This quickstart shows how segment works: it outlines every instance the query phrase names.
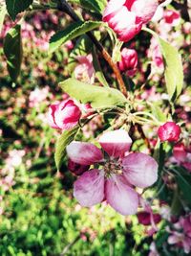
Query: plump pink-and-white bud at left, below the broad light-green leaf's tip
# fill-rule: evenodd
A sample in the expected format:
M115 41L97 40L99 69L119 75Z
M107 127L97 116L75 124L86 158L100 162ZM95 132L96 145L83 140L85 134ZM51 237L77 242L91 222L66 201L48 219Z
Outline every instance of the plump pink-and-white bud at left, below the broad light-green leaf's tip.
M50 105L48 122L52 128L70 129L78 123L81 111L73 100Z

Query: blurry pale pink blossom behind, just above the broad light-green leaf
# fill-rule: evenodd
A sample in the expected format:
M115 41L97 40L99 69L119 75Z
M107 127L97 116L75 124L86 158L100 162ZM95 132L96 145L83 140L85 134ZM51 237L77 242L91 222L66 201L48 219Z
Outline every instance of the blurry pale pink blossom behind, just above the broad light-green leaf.
M92 55L76 57L79 64L74 68L74 77L80 81L94 83L95 69Z

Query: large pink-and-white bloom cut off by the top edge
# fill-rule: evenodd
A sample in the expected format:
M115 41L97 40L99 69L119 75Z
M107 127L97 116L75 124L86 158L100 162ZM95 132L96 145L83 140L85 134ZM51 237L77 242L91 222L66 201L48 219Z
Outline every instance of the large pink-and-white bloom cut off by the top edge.
M111 0L103 12L103 21L117 33L119 40L126 42L152 19L158 6L157 0Z

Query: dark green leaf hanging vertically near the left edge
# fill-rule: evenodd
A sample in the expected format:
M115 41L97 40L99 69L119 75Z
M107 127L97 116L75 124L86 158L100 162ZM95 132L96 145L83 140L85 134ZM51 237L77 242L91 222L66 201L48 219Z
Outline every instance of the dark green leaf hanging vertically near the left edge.
M21 69L22 62L22 40L21 26L11 28L4 40L4 53L7 58L8 70L12 81L16 81Z

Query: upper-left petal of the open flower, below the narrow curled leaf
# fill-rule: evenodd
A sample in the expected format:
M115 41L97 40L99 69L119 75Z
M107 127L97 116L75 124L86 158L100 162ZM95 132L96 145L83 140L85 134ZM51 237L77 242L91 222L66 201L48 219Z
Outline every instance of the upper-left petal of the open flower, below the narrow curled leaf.
M69 158L80 165L92 165L103 160L102 152L94 144L74 141L66 147Z

